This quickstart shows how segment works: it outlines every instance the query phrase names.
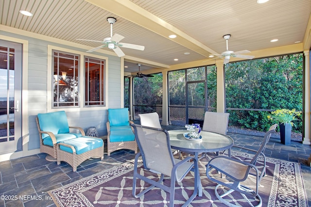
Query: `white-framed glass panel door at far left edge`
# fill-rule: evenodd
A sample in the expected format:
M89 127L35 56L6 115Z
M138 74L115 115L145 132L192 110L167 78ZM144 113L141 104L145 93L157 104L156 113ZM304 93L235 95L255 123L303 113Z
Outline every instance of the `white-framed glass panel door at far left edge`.
M22 150L22 45L0 40L0 154Z

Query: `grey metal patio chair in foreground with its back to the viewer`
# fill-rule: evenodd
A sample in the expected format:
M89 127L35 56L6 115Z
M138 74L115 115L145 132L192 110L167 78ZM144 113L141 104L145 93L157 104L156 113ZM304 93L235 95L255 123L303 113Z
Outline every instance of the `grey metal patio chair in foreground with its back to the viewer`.
M193 159L193 157L186 157L183 160L174 158L171 151L170 137L165 129L152 128L137 124L131 124L131 126L134 128L136 141L140 151L135 156L133 196L139 198L143 194L157 187L170 193L170 207L173 207L175 182L181 182L194 167L194 190L192 195L183 205L188 206L196 197L198 191L198 179L200 178L197 161ZM161 174L158 181L141 175L138 172L138 159L140 156L142 157L143 168L145 170ZM191 162L190 159L192 160ZM166 186L162 183L165 175L171 177L170 186ZM155 177L157 177L157 175L155 175ZM137 187L137 182L139 182L137 179L143 180L144 182L151 184L151 186L141 190L140 186Z

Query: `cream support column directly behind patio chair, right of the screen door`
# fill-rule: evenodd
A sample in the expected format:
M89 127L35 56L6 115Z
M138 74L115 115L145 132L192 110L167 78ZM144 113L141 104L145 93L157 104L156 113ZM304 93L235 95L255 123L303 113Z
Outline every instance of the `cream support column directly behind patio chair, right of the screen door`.
M223 61L216 62L217 68L217 112L225 112L225 69Z

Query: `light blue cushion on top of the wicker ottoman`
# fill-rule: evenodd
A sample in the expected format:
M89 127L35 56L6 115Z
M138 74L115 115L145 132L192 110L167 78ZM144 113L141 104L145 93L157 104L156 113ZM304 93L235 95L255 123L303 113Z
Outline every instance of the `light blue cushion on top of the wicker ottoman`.
M76 150L76 154L80 155L82 153L85 153L87 151L96 149L98 147L102 147L104 142L102 139L99 138L91 138L91 137L80 137L80 138L72 138L65 141L61 141L60 143L69 144L74 147ZM66 147L63 145L60 145L59 148L63 151L72 153L72 149L70 147Z

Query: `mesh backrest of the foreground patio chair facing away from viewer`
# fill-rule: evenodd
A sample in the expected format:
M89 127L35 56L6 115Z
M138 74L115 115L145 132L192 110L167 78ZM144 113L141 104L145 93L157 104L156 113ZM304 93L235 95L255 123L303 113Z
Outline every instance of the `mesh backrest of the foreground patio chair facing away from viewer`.
M170 136L165 129L131 124L145 169L171 176L174 163Z

